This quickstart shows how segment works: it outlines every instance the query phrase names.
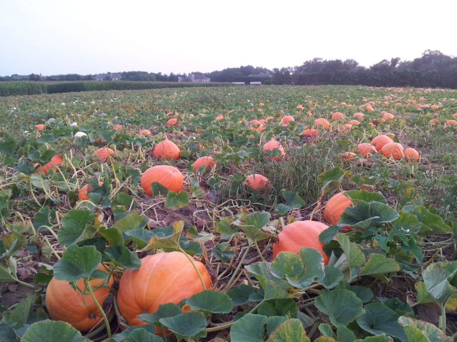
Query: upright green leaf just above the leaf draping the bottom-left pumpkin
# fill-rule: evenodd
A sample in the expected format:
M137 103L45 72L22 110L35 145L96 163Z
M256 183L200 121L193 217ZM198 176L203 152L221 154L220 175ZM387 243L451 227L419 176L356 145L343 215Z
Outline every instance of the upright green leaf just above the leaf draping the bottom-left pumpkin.
M72 209L62 219L62 226L57 233L62 246L75 243L83 234L87 224L93 222L95 214L86 209Z

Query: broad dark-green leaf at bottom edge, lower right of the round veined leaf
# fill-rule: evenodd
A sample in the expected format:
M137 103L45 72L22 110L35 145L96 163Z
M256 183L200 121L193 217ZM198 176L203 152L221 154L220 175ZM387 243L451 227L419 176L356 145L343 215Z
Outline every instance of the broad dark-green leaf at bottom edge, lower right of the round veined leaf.
M358 325L374 335L387 334L408 341L405 330L398 323L399 315L380 302L369 303L365 313L357 317Z

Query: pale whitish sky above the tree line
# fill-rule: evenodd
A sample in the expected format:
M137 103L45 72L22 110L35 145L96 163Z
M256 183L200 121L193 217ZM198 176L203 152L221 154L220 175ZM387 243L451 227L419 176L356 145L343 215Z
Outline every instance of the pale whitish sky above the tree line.
M0 0L0 76L457 56L455 0Z

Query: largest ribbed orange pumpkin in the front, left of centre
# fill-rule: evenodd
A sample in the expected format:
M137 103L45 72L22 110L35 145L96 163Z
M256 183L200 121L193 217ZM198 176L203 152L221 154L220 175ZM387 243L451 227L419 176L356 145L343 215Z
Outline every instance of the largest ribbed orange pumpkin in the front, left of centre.
M205 265L193 262L206 289L210 289L211 278ZM177 304L203 290L197 272L183 253L157 253L141 259L139 270L124 272L119 282L117 305L128 325L144 325L146 322L140 321L137 315L153 313L160 304Z

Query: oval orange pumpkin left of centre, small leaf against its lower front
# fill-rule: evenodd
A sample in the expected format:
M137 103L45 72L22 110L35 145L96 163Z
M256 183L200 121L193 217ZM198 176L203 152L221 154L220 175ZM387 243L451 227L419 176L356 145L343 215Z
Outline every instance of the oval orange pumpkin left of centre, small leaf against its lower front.
M147 169L141 175L141 186L143 186L146 195L152 196L151 184L159 182L165 186L169 191L176 191L179 193L184 184L184 177L181 171L169 165L156 165Z

